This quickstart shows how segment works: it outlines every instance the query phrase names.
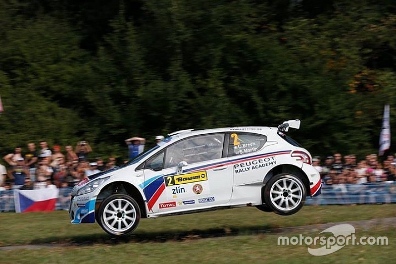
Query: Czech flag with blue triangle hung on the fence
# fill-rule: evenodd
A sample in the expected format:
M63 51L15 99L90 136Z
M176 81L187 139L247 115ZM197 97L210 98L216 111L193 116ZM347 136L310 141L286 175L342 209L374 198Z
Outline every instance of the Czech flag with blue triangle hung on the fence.
M54 211L59 189L14 190L15 212Z

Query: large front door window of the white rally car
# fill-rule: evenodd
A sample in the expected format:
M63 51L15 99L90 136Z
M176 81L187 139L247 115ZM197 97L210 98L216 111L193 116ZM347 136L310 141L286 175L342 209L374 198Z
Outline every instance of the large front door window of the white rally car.
M182 160L192 164L221 158L223 142L224 134L210 134L184 139L167 148L164 168L175 167Z

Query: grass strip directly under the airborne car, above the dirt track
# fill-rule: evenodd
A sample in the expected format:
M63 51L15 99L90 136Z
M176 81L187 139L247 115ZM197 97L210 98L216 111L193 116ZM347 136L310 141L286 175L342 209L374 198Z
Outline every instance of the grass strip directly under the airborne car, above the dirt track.
M125 241L168 241L205 233L230 231L243 235L254 233L257 229L395 216L396 205L306 206L291 216L264 213L255 208L240 208L142 219L134 235ZM66 211L0 213L0 223L0 246L86 242L96 244L113 241L97 224L70 224ZM228 237L227 239L238 240L239 238Z

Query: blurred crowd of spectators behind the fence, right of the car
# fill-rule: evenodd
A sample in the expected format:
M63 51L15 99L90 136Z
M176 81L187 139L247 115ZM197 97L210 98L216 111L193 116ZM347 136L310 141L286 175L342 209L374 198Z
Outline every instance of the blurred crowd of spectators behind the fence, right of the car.
M320 172L322 183L363 184L375 182L394 182L396 180L396 160L389 155L380 162L376 154L367 155L357 161L355 155L342 157L340 153L329 156L321 163L319 157L312 158L312 165Z

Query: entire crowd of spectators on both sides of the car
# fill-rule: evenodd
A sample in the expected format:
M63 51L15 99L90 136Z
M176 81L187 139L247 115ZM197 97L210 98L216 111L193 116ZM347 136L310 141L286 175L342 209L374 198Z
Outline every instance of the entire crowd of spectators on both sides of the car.
M155 142L163 136L156 136ZM146 140L133 137L125 140L129 158L134 158L144 150ZM16 147L13 153L4 156L8 170L0 164L0 191L10 189L43 189L73 187L78 182L97 172L116 166L116 158L89 159L92 148L86 141L80 141L73 148L58 145L49 149L46 141L27 144L27 151ZM127 160L124 160L126 162ZM337 153L321 162L320 157L312 158L312 165L320 172L325 185L363 184L396 181L396 159L393 155L380 162L377 155L367 155L357 161L355 155L344 158Z

